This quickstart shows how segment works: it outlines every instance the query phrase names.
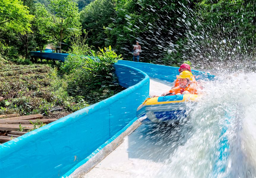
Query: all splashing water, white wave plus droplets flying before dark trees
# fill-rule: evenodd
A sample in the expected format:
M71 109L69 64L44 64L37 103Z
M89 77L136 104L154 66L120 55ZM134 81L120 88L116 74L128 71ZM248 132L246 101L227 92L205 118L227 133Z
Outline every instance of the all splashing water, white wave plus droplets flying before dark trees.
M157 2L161 6L168 3ZM139 2L136 4L140 5ZM186 123L177 127L149 127L138 137L136 142L142 143L140 149L143 152L138 151L134 159L147 160L148 165L136 164L132 177L255 177L256 74L251 71L232 73L245 67L256 69L253 62L255 38L239 41L238 36L243 37L246 28L233 25L227 28L225 21L215 23L216 33L211 34L208 31L214 25L213 21L203 26L203 18L190 8L190 2L188 5L179 4L175 11L165 10L166 13L161 13L161 9L156 10L150 4L143 4L145 7L141 6L143 9L139 9L138 13L146 11L148 15L155 15L156 20L151 23L146 21L148 18L145 16L136 19L137 16L135 18L124 12L127 13L124 28L132 31L132 37L141 44L141 59L172 65L173 56L175 58L179 54L181 60L178 62L190 60L194 66L201 69L210 66L224 75L216 74L220 77L212 82L201 81L205 94L196 106L189 104L187 112L190 118ZM245 11L241 8L237 13ZM221 15L224 12L219 8L214 13ZM177 20L170 22L171 15L175 15ZM222 19L219 15L217 18ZM242 22L243 18L241 15ZM107 29L111 31L114 28ZM143 30L144 33L141 32ZM131 45L127 43L120 52L131 56ZM163 61L163 54L166 54L167 61ZM168 58L168 55L172 57Z

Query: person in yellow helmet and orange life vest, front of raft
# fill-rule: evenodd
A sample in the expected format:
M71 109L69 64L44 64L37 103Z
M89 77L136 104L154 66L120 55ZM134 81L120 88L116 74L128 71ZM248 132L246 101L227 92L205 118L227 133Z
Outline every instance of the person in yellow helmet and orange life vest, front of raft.
M182 71L177 75L178 86L172 88L169 93L174 95L181 94L198 94L196 84L192 82L193 74L189 71Z

